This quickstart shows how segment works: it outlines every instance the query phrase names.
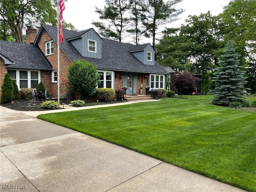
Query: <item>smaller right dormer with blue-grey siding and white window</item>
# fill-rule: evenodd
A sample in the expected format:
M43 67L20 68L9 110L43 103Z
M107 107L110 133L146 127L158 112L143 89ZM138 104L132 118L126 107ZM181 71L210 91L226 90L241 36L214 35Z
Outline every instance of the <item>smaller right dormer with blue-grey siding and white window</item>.
M155 64L155 50L149 43L137 45L134 50L129 52L145 65Z

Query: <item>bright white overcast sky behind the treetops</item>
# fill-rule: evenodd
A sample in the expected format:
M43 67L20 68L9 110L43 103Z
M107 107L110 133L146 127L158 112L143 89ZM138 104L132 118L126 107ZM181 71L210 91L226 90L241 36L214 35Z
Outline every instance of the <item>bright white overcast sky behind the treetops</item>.
M181 24L186 24L185 20L189 15L199 16L200 13L207 13L208 10L213 16L218 15L229 2L230 0L183 0L175 8L184 9L184 13L180 14L178 21L170 23L167 27L180 27ZM72 23L78 30L94 28L97 31L97 28L91 24L92 21L100 21L98 14L94 12L95 6L103 9L104 4L105 0L68 0L65 2L64 20Z

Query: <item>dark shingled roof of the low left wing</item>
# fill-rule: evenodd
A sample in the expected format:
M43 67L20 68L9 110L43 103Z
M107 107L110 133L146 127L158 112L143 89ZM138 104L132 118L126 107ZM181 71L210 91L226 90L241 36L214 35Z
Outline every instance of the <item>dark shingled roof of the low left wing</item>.
M52 65L37 46L2 40L0 45L0 54L12 61L8 68L52 70Z

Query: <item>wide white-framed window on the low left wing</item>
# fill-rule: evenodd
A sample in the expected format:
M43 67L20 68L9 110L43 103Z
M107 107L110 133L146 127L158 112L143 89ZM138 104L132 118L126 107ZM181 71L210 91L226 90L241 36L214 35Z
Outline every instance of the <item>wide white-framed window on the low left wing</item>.
M19 89L35 89L40 82L40 71L32 70L7 70L10 78L16 81Z

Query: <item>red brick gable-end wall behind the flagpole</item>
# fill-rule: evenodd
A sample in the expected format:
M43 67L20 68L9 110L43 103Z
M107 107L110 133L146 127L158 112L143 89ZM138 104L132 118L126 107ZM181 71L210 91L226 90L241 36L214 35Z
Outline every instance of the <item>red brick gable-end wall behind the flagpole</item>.
M45 54L45 42L52 40L52 37L48 32L44 32L38 42L39 48ZM52 64L52 70L58 70L58 44L53 43L53 54L45 56L49 62ZM68 66L71 64L71 61L60 49L60 84L62 81L66 80L68 76ZM58 83L52 82L52 72L41 72L41 80L52 97L58 97ZM60 93L61 94L61 93Z

